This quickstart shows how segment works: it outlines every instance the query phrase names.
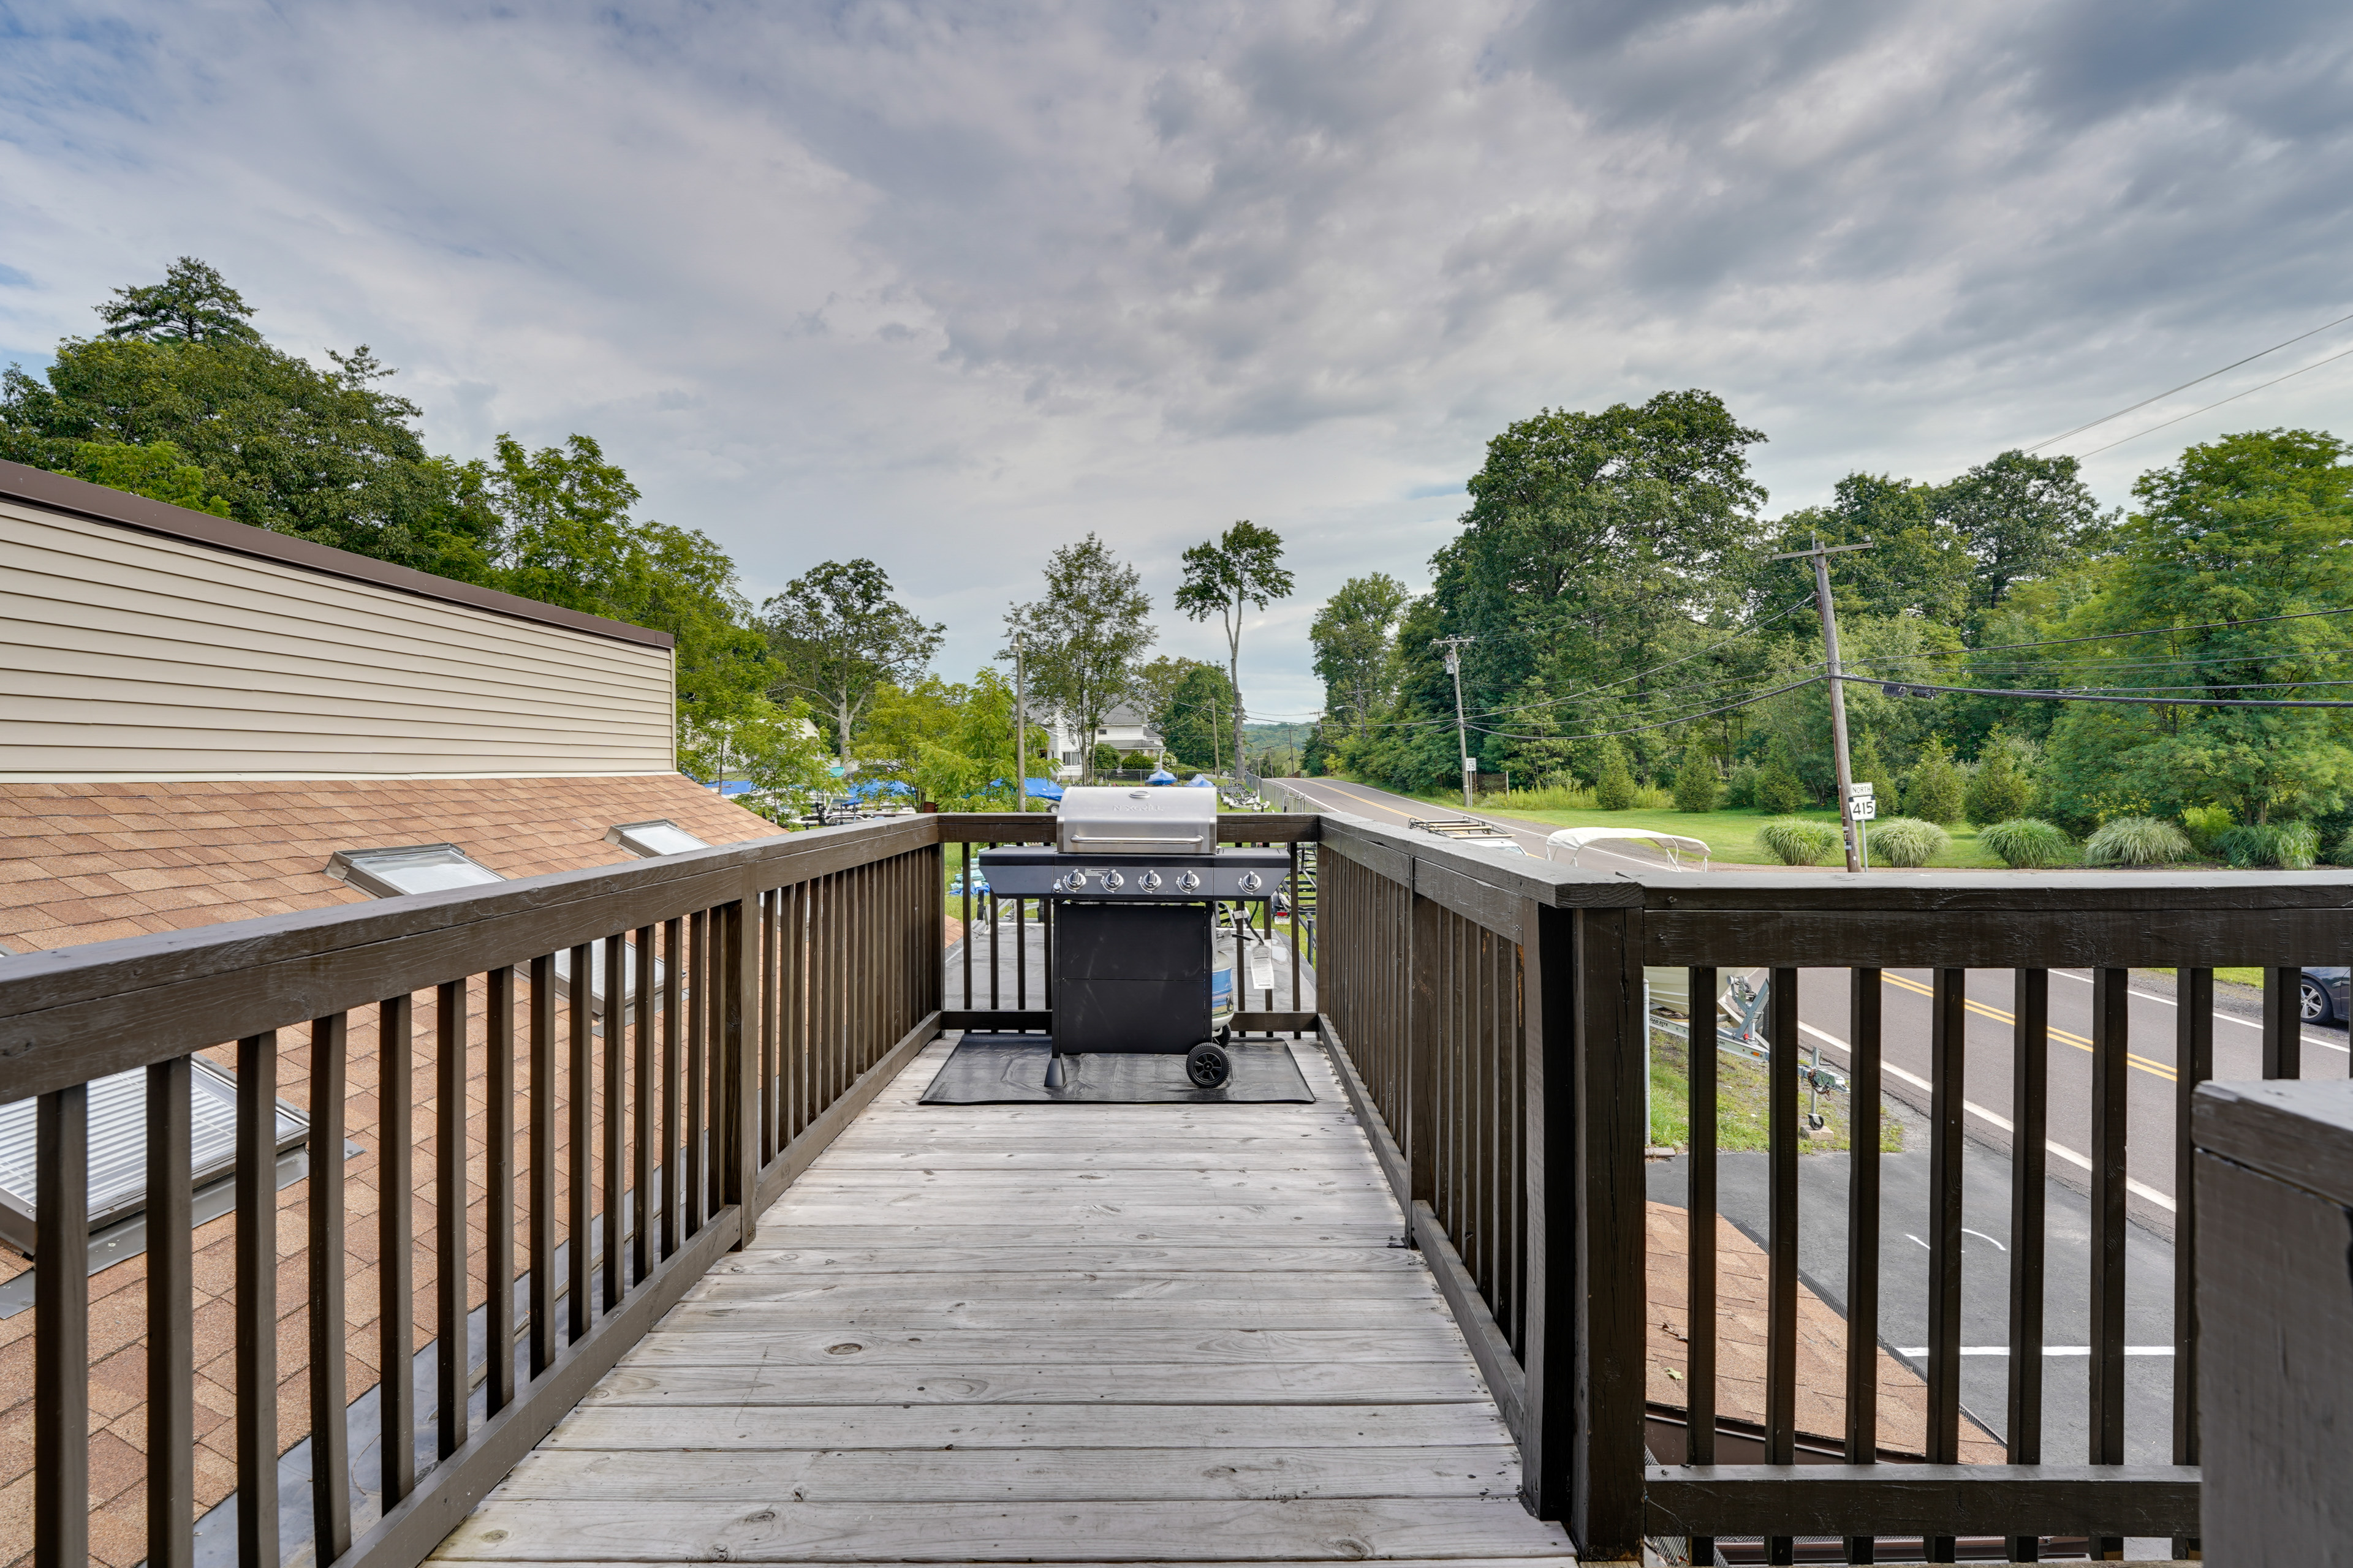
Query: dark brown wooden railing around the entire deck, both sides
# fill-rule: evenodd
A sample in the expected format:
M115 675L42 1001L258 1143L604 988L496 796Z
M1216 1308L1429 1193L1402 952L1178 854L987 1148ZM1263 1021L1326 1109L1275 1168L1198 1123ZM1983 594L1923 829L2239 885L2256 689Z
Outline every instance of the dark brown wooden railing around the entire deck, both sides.
M87 1225L80 1204L87 1084L148 1074L148 1561L191 1561L188 1056L235 1041L242 1164L238 1187L238 1533L245 1561L280 1559L280 1434L273 1331L275 1206L268 1180L280 1056L306 1056L313 1150L346 1133L374 1147L384 1192L376 1326L405 1366L414 1279L438 1345L466 1345L466 1309L487 1321L478 1368L440 1363L426 1474L407 1460L416 1410L384 1378L381 1519L355 1530L344 1446L344 1180L313 1159L308 1213L308 1408L325 1563L416 1563L569 1410L711 1262L741 1246L753 1215L856 1114L878 1084L941 1027L1045 1027L1038 990L1016 980L988 1004L984 947L995 929L972 898L976 844L1038 839L1047 818L918 816L819 830L626 867L539 877L381 905L132 938L0 959L0 1103L40 1098L35 1500L42 1561L82 1561L87 1530ZM2353 952L2353 875L1868 875L1711 872L1628 877L1555 867L1384 830L1346 816L1226 818L1235 842L1287 842L1313 858L1315 919L1294 954L1320 1006L1245 1013L1254 1027L1313 1027L1332 1048L1374 1152L1522 1448L1525 1500L1562 1519L1598 1561L1633 1559L1645 1535L1765 1537L1788 1561L1795 1535L1842 1535L1868 1561L1873 1537L2198 1533L2195 1319L2177 1314L2177 1465L2125 1458L2125 973L2181 969L2179 1093L2212 1070L2212 969L2268 973L2264 1070L2297 1074L2299 964ZM951 872L962 891L951 896ZM951 910L960 950L944 952ZM986 936L981 940L988 940ZM567 978L602 957L609 999L574 1009ZM1299 957L1294 957L1294 964ZM1873 1462L1871 1373L1878 1260L1878 1145L1857 1135L1847 1185L1857 1288L1847 1465L1711 1465L1713 1124L1694 1117L1689 1450L1645 1450L1645 1037L1642 966L1689 971L1711 997L1727 969L1769 969L1769 1034L1793 1046L1802 969L1845 969L1857 1105L1875 1107L1878 976L1934 973L1929 1084L1934 1279L1927 1347L1929 1465ZM2007 1465L1953 1465L1960 1356L1962 983L2017 971L2019 1267L2009 1338L2040 1345L2040 1128L2047 1107L2052 966L2092 969L2092 1465L2045 1465L2033 1410L2040 1354L2009 1356ZM475 987L480 978L480 987ZM431 997L435 1093L431 1171L407 1086L412 997ZM475 1011L473 997L487 1006ZM1299 992L1294 992L1299 994ZM953 1006L962 1001L962 1006ZM1007 1006L1012 1004L1012 1006ZM600 1016L602 1013L602 1016ZM1701 1013L1704 1016L1704 1013ZM468 1023L475 1020L475 1023ZM487 1046L487 1154L468 1166L466 1086ZM344 1126L346 1053L379 1037L374 1126ZM282 1032L299 1032L289 1051ZM1694 1091L1713 1053L1694 1030ZM1769 1067L1767 1420L1769 1460L1795 1439L1798 1063ZM520 1077L518 1077L520 1074ZM1704 1098L1701 1098L1704 1103ZM1861 1119L1861 1117L1859 1117ZM2186 1126L2186 1124L2184 1124ZM520 1168L518 1168L520 1150ZM2186 1138L2172 1150L2188 1159ZM355 1164L360 1171L367 1161ZM678 1171L678 1180L671 1173ZM480 1239L456 1220L480 1204ZM416 1201L433 1213L419 1229ZM2179 1192L2177 1291L2188 1302L2191 1192ZM454 1222L440 1222L442 1218ZM518 1248L518 1237L522 1246ZM56 1267L56 1260L71 1260ZM499 1267L492 1260L506 1260ZM558 1281L562 1272L565 1284ZM473 1298L459 1288L482 1279ZM518 1302L520 1295L520 1302ZM482 1418L468 1425L468 1382ZM438 1455L438 1462L433 1462ZM1652 1462L1657 1460L1657 1462ZM362 1521L365 1523L365 1521ZM358 1533L358 1540L353 1535Z

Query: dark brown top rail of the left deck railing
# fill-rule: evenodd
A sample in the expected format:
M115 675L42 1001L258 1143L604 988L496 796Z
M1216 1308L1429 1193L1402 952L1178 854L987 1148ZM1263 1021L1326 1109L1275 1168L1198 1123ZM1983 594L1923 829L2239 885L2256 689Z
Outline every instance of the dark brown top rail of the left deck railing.
M0 957L0 1103L925 849L936 823L819 827Z

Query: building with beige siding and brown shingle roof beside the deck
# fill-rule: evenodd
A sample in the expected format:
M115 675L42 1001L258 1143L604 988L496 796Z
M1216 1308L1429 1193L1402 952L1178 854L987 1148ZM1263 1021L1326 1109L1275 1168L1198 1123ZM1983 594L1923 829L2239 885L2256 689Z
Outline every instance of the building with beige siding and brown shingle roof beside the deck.
M16 463L0 463L0 954L19 954L0 966L33 961L21 957L33 950L621 865L776 832L678 771L666 632ZM569 973L558 978L569 992ZM591 994L602 985L598 966ZM468 997L473 1039L485 1039L482 990ZM431 1004L426 994L412 1009L419 1107L435 1095ZM287 1037L280 1058L280 1204L299 1232L308 1051ZM374 1126L376 1060L379 1020L372 1009L353 1013L346 1100L360 1112L351 1126ZM471 1067L480 1093L482 1058ZM198 1095L219 1098L233 1072L233 1051L207 1051ZM106 1302L144 1276L144 1119L104 1117L106 1084L92 1086L94 1138L129 1143L92 1147L101 1229L87 1260L89 1359L96 1385L127 1392L106 1406L108 1425L92 1429L89 1474L92 1500L134 1519L144 1495L134 1462L144 1446L144 1316ZM433 1117L419 1112L414 1126L416 1161L426 1164ZM19 1255L33 1241L35 1194L21 1180L31 1161L12 1140L28 1138L31 1103L0 1107L7 1429L31 1408L28 1269L59 1267ZM374 1204L376 1150L353 1145L334 1157L348 1157L351 1234L372 1234L372 1220L358 1215ZM198 1147L195 1166L198 1180L212 1182L205 1192L226 1180L216 1152ZM101 1168L127 1175L99 1192ZM205 1192L195 1206L198 1279L209 1281L198 1288L193 1321L198 1399L226 1410L233 1220ZM431 1255L421 1258L416 1321L426 1324L433 1284ZM376 1295L365 1248L353 1253L348 1288L353 1302ZM280 1305L299 1312L301 1300L296 1288ZM353 1326L362 1319L355 1312ZM280 1345L280 1378L299 1387L304 1335L282 1333ZM369 1382L374 1368L358 1366L353 1392ZM289 1413L280 1436L292 1443L306 1429L306 1418ZM214 1505L235 1474L233 1429L205 1427L198 1443L200 1502ZM31 1465L26 1443L0 1446L0 1495L26 1497ZM0 1509L0 1533L9 1519Z

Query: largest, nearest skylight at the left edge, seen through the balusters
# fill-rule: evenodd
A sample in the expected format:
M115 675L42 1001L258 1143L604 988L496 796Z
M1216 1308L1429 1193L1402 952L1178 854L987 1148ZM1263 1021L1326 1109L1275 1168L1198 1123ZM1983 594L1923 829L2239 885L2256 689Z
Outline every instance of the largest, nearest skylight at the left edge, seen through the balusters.
M188 1175L205 1182L238 1166L238 1079L202 1056L188 1072ZM0 1105L0 1241L33 1251L40 1100ZM278 1152L308 1143L311 1121L278 1103ZM89 1084L89 1229L146 1208L146 1067Z

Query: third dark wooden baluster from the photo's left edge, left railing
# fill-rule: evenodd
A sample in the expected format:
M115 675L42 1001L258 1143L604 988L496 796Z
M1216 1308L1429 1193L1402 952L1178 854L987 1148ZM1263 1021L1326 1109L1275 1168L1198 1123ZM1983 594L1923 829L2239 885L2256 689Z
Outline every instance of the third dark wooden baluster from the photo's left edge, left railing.
M238 1041L238 1563L278 1563L278 1030Z

